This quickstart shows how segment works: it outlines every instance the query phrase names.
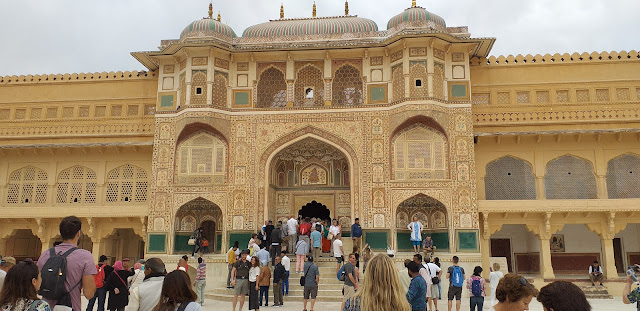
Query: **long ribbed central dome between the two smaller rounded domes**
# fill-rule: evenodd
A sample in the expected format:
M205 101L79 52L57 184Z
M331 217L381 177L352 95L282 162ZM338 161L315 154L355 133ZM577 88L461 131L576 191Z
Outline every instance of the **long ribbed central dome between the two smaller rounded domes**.
M243 37L290 37L377 32L378 25L357 16L279 19L247 28Z

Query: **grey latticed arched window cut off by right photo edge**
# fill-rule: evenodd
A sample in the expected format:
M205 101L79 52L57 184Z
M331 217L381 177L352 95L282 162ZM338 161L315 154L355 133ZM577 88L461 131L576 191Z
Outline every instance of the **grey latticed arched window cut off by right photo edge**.
M640 156L624 154L607 165L609 199L640 198Z

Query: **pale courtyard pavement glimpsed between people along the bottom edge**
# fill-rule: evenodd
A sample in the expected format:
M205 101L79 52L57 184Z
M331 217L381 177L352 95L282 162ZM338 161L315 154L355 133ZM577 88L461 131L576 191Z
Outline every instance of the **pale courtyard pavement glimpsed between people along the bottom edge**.
M591 303L591 307L593 311L635 311L635 305L625 305L622 303L620 298L616 299L590 299L589 303ZM86 310L87 300L83 299L83 309ZM226 301L216 301L212 299L206 299L204 303L204 307L202 308L205 311L220 311L220 310L231 310L232 303ZM310 307L307 306L308 308ZM339 302L318 302L316 303L315 310L322 311L340 311L340 303ZM455 307L454 307L455 309ZM484 308L485 310L493 310L488 307ZM248 310L248 301L245 302L244 309ZM302 310L302 302L290 302L287 303L286 298L284 302L284 306L281 308L274 307L262 307L262 310L278 310L278 311L301 311ZM444 304L440 302L438 304L438 310L447 310L446 301ZM469 300L462 301L462 307L460 310L469 310ZM532 301L530 306L531 311L543 311L542 305L538 303L535 299ZM146 311L146 310L145 310Z

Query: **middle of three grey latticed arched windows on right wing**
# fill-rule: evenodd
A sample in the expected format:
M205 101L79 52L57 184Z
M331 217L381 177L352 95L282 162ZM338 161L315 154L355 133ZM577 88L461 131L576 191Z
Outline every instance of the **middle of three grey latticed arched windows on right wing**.
M587 160L565 155L547 164L544 179L547 199L595 199L598 196L593 166Z

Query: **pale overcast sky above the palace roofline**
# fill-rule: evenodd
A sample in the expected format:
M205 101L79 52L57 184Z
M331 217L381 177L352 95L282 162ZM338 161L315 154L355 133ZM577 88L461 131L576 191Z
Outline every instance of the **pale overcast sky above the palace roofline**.
M216 0L241 35L251 25L310 17L313 0ZM0 0L0 75L142 70L129 53L157 50L207 15L209 0ZM411 0L350 0L350 13L380 30ZM492 55L640 49L640 0L418 0L447 26L496 37ZM318 16L344 14L344 0L317 0Z

